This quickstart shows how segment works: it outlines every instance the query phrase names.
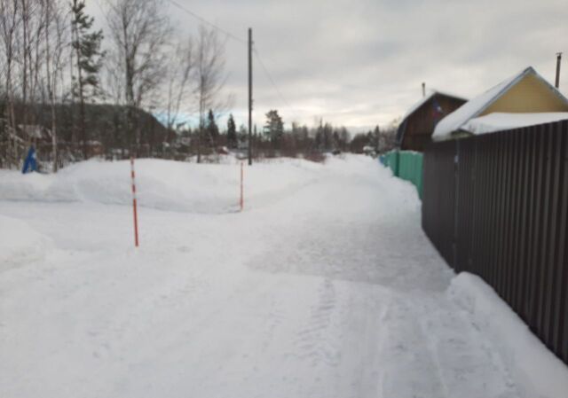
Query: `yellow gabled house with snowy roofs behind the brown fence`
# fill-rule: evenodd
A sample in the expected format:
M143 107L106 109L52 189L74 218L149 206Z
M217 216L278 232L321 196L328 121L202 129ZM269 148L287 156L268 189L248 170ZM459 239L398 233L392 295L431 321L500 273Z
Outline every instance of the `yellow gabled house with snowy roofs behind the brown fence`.
M442 119L436 141L568 119L568 99L533 67L497 84Z

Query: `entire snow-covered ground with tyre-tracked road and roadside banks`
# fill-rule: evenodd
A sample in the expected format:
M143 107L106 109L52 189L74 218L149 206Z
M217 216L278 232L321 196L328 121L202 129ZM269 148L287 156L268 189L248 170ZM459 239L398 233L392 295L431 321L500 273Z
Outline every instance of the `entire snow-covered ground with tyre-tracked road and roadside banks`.
M374 160L0 171L0 396L566 397Z

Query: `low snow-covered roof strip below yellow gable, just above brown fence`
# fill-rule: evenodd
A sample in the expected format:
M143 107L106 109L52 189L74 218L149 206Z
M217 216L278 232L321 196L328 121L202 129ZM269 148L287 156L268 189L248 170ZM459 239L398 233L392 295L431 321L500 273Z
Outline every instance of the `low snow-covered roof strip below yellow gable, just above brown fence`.
M535 126L537 124L552 123L553 121L568 120L568 112L541 112L541 113L489 113L485 116L467 121L461 129L469 133L480 135L495 131L519 129Z

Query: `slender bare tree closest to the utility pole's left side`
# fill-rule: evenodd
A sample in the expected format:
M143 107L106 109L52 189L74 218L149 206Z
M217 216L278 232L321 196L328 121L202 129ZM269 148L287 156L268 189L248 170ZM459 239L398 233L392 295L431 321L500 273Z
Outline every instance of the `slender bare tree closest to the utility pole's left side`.
M197 38L195 53L194 78L195 97L199 109L199 131L197 133L197 162L201 162L201 144L209 109L218 111L224 105L220 94L225 86L225 42L222 42L217 30L201 26Z

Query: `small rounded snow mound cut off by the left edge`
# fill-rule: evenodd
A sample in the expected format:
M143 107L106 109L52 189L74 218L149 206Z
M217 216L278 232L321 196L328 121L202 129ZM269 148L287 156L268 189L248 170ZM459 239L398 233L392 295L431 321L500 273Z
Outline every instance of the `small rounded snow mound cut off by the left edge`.
M26 222L0 215L0 272L43 257L50 241Z

